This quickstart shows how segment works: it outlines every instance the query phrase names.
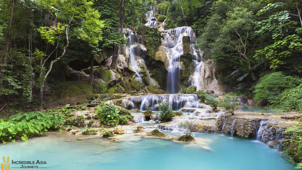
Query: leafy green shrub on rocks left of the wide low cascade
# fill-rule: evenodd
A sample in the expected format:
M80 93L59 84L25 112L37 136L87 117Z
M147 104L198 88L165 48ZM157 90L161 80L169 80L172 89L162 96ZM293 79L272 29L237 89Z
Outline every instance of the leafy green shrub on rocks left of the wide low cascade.
M104 104L97 107L95 114L99 114L99 120L108 126L115 126L117 124L125 124L128 120L133 119L131 113L126 110L119 110L111 104Z

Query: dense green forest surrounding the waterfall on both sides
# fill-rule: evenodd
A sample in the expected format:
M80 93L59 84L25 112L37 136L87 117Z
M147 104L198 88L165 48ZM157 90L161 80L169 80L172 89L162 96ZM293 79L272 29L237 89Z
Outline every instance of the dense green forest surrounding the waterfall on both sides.
M296 0L1 0L0 102L37 107L45 83L57 88L67 66L81 70L97 64L94 55L116 55L126 43L120 28L143 35L152 56L159 33L144 24L155 3L165 29L193 28L203 60L214 60L217 78L237 95L302 110L302 2Z

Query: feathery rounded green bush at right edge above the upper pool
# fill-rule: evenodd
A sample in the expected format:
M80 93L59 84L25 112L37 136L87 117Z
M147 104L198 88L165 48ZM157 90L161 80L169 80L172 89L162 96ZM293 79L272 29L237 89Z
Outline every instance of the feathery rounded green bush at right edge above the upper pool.
M255 100L269 103L271 97L278 95L284 89L296 87L301 80L292 76L285 76L282 72L275 72L261 77L255 85Z

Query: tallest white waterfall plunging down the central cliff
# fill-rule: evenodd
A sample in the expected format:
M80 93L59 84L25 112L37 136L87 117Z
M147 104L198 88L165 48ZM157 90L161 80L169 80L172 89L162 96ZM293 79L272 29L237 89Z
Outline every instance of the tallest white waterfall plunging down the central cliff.
M162 36L164 42L166 42L162 45L169 48L167 52L167 58L169 60L167 91L175 94L180 91L180 56L183 55L182 38L189 36L191 43L195 43L196 37L191 27L177 27L172 30L163 30ZM194 44L191 45L191 48L192 51ZM195 54L194 50L192 52L193 54Z

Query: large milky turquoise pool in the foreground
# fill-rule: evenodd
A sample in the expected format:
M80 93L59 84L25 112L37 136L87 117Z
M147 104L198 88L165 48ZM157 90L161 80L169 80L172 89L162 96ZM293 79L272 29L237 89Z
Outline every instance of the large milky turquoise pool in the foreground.
M180 136L180 132L167 132ZM129 135L129 136L127 136ZM47 137L0 145L0 156L14 161L46 161L50 169L98 170L291 170L275 150L253 140L233 139L221 134L195 133L195 138L211 139L211 150L186 147L167 139L123 135L124 141L108 142L101 137L75 140L67 132L51 132ZM126 138L127 137L127 138ZM133 139L133 140L127 140ZM10 161L11 163L11 161ZM11 165L11 167L19 167Z

